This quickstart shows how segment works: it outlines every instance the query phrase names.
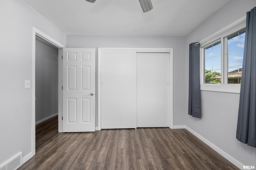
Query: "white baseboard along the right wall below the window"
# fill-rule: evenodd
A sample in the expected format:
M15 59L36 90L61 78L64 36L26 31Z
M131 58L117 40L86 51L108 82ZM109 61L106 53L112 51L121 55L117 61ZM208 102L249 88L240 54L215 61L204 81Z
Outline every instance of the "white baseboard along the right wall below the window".
M207 139L205 139L204 137L202 137L201 135L199 135L198 133L196 133L195 131L193 131L192 129L190 129L189 127L186 126L186 129L188 131L190 131L190 133L192 133L193 135L195 135L196 137L198 137L198 139L200 139L201 141L203 141L204 143L206 143L206 145L208 145L209 147L211 147L213 150L215 150L216 152L218 152L220 155L222 155L224 158L226 158L227 160L229 160L232 164L234 164L235 166L237 166L240 169L243 169L243 164L241 164L240 162L238 162L238 160L236 160L235 158L233 158L232 156L230 156L229 154L227 154L226 152L224 152L223 150L221 150L220 148L216 147L216 145L214 145L213 143L211 143L210 141L208 141Z

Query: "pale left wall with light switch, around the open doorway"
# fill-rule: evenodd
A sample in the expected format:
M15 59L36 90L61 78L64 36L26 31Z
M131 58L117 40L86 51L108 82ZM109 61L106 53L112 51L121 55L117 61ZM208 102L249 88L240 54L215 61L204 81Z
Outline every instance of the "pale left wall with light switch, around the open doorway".
M62 44L66 35L25 0L0 0L0 164L32 154L32 26Z

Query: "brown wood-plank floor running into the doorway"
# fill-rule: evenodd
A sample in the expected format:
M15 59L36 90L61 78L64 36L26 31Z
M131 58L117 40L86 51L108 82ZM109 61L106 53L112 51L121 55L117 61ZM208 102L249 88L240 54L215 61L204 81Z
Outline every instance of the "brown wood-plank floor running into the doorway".
M36 155L18 170L238 170L186 129L58 133L58 117L36 126Z

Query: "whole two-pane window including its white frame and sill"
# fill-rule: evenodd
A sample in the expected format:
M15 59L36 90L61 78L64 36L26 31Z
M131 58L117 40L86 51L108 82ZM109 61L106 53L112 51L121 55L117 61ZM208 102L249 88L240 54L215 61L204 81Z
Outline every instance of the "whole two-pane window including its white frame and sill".
M200 41L201 90L240 93L246 17Z

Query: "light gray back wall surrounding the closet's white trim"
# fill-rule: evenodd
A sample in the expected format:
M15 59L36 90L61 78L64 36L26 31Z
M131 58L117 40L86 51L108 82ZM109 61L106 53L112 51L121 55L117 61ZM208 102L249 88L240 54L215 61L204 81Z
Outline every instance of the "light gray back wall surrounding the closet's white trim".
M96 87L98 86L98 47L124 48L173 48L174 85L173 113L174 125L184 125L184 37L153 36L82 36L67 35L66 47L96 48ZM98 89L97 89L98 90ZM96 94L98 93L96 90ZM98 98L96 96L96 127L98 127Z

